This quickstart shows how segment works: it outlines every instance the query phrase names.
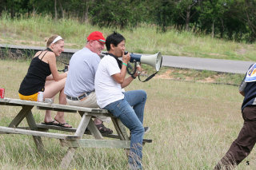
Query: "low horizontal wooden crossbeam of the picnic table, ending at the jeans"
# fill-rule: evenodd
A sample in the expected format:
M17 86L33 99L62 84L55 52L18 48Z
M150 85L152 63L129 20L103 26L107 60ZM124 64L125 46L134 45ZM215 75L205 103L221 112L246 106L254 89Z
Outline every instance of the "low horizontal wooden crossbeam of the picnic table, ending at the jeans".
M130 148L130 140L62 140L64 146L82 148Z

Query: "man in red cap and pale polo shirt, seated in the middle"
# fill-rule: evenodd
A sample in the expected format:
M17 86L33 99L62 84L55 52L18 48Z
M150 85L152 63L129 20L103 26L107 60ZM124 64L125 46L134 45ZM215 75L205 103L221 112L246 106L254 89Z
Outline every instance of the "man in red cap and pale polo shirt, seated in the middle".
M66 78L64 93L68 105L98 108L94 92L94 77L101 61L99 55L104 49L106 39L103 34L94 31L87 38L86 46L74 53L70 59L69 74ZM110 128L103 125L109 117L97 117L94 124L100 132L112 134Z

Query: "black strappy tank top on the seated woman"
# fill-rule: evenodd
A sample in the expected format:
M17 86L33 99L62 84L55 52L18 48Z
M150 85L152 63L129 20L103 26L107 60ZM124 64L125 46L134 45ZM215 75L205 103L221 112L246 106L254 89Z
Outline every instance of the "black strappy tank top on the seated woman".
M42 58L46 55L46 53L42 56ZM18 90L18 93L24 96L29 96L34 93L44 91L46 77L51 74L49 64L42 61L42 58L41 60L38 58L40 54L32 59L30 67L26 73L26 77L24 77Z

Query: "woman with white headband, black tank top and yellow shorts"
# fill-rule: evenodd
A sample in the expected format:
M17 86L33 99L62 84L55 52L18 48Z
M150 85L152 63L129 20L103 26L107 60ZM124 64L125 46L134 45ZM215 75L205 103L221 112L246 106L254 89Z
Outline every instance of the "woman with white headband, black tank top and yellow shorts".
M64 40L61 36L54 35L46 42L47 49L35 53L30 63L26 77L18 90L20 99L27 101L37 101L38 92L43 92L43 97L54 98L59 93L59 104L66 105L66 95L64 86L66 73L58 73L56 57L64 51ZM45 125L59 125L71 128L64 120L64 113L58 112L54 119L50 115L50 110L46 110L44 119Z

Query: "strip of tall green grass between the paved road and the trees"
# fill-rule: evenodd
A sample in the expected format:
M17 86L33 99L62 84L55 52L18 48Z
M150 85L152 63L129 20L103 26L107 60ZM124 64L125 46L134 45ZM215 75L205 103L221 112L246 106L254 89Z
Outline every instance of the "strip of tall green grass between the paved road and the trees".
M91 26L78 22L76 18L55 21L48 15L22 16L11 19L9 14L0 18L0 43L44 46L44 38L60 34L66 40L67 48L80 49L86 37L94 30L105 36L114 29ZM158 31L158 26L141 24L136 28L117 30L126 37L126 49L134 53L156 53L189 57L211 57L231 60L254 61L256 45L228 42L210 38L204 34L193 34L174 29L166 33Z

